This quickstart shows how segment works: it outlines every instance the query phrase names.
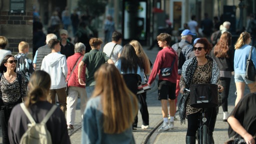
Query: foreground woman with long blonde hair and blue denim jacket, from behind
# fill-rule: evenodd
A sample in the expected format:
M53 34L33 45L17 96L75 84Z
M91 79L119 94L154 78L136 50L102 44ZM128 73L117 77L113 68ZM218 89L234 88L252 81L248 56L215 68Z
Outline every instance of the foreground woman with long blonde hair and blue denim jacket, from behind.
M132 122L137 98L113 64L102 64L94 74L96 85L86 104L81 143L135 143Z

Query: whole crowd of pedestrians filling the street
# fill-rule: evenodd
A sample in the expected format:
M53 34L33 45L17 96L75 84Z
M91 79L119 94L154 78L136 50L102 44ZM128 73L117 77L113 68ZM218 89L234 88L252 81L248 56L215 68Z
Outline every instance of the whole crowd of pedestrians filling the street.
M3 143L19 143L29 129L30 118L21 109L23 102L38 123L58 103L59 108L53 109L46 128L52 143L70 143L67 129L76 126L74 118L78 98L82 143L135 143L132 130L138 127L138 110L142 116L141 128L147 129L150 125L146 91L138 93L138 83L143 81L150 85L158 76L157 96L163 119L159 132L175 128L177 97L181 95L178 111L181 123L187 119L186 143L195 143L201 108L190 105L191 94L184 89L193 84L210 83L218 86L219 93L218 105L205 108L206 117L210 119L206 122L209 142L214 143L213 131L218 106L221 105L223 121L230 124L229 135L254 144L256 129L252 125L256 116L248 112L252 110L246 102L250 100L252 107L255 104L253 92L256 92L256 83L245 78L246 60L253 47L254 17L251 17L247 28L251 33L241 32L234 46L231 44L232 34L228 32L230 22L220 24L215 18L213 23L207 13L199 24L195 18L195 15L191 16L177 43L170 45L172 39L168 33L157 35L156 41L161 49L153 64L139 41L131 40L122 46L122 34L115 31L111 16L105 21L102 50L103 40L93 35L87 22L79 20L76 11L69 15L67 8L61 18L57 11L52 13L47 35L41 33L41 25L37 23L34 34L38 41L33 43L40 44L36 44L38 49L35 49L33 61L26 55L29 49L27 42L20 41L19 52L13 56L5 50L7 38L0 36L0 126ZM73 24L74 41L68 38L70 24ZM41 44L41 41L46 44ZM253 47L253 63L256 62L255 52ZM229 116L227 97L232 71L237 97ZM251 94L243 96L245 84Z

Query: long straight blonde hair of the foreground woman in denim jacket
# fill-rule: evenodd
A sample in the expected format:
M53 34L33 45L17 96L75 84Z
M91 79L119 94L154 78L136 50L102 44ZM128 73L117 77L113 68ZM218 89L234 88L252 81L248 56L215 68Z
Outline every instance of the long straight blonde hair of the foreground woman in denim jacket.
M121 133L131 127L138 109L136 96L127 88L113 64L104 63L94 74L92 97L100 96L105 133Z

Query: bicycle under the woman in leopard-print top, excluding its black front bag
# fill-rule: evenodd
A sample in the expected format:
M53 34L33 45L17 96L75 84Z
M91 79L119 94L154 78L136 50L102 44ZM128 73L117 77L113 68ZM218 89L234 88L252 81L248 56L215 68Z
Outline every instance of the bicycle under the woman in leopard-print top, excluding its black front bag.
M190 92L189 89L184 88L184 92ZM207 144L209 143L209 128L206 125L206 108L200 107L200 114L199 114L199 118L198 118L198 128L196 131L196 140L198 144Z

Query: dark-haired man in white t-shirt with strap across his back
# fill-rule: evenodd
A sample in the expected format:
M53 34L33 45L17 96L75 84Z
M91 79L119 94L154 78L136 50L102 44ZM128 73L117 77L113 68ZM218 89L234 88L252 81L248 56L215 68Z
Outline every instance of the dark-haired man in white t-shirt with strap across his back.
M121 55L122 46L120 45L122 41L122 34L120 32L114 31L112 34L112 41L108 42L103 47L103 52L106 53L110 59L115 61Z

